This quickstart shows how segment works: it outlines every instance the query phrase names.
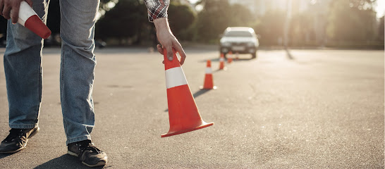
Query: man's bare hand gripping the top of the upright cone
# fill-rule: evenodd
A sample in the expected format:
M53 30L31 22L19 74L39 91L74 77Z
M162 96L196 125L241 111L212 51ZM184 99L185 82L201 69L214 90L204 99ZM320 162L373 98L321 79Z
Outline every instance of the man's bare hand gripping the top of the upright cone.
M157 28L157 37L161 46L158 44L157 49L159 53L163 54L163 49L167 51L167 58L169 61L173 60L173 50L176 49L179 55L181 56L181 65L185 62L186 54L183 51L181 44L178 42L178 39L173 35L170 30L169 21L167 18L157 18L154 20L154 25Z

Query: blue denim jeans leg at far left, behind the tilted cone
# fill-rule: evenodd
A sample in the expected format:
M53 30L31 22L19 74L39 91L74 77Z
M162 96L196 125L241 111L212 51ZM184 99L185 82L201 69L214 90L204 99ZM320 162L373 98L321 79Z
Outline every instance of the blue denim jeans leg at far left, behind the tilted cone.
M49 1L33 1L32 8L44 22ZM38 125L42 102L42 38L8 20L4 72L9 108L9 127Z

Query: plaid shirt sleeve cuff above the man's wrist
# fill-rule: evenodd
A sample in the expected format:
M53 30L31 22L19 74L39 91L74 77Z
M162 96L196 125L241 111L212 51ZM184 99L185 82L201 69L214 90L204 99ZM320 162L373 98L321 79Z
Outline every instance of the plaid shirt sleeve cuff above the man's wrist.
M157 18L167 18L170 0L145 0L149 22Z

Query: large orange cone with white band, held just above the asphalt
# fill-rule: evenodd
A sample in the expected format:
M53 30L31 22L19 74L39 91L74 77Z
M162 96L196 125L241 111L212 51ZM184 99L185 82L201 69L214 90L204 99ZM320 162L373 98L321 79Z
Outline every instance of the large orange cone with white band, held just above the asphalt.
M161 137L169 137L214 125L205 123L198 111L193 94L185 78L185 73L173 50L173 60L169 61L164 49L164 69L166 70L167 101L169 105L170 130Z

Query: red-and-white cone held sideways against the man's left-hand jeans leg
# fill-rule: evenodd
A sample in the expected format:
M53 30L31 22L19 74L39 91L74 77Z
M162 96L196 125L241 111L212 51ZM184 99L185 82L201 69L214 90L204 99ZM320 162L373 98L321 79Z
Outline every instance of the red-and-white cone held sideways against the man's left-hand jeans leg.
M25 1L20 2L18 23L43 39L47 39L51 35L51 30L40 20L39 16Z

